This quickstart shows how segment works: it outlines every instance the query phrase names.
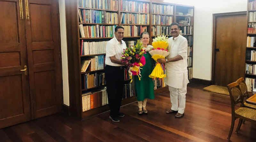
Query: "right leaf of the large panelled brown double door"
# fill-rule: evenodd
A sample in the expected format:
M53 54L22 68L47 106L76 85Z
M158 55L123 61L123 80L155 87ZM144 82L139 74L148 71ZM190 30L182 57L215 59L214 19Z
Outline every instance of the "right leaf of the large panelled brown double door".
M57 0L24 2L31 108L38 118L61 110L58 6Z

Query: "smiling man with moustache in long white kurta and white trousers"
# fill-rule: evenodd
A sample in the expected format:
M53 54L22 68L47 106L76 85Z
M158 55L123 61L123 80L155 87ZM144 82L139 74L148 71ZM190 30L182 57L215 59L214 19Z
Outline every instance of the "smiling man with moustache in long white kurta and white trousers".
M188 81L188 41L180 35L178 23L171 24L172 37L168 39L170 54L166 59L158 59L159 63L166 63L166 78L164 82L169 86L172 108L166 113L176 113L175 117L184 116ZM179 103L178 103L179 102Z

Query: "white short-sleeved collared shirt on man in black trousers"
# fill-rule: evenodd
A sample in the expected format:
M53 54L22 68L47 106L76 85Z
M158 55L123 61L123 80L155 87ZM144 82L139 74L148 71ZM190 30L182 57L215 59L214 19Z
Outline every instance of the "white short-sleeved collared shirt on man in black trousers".
M120 44L119 41L117 41L116 37L112 38L110 41L108 41L106 46L106 59L105 64L110 66L123 66L122 64L116 64L111 62L110 57L115 56L116 59L120 60L123 49L126 49L126 44L123 40L121 40L122 44Z

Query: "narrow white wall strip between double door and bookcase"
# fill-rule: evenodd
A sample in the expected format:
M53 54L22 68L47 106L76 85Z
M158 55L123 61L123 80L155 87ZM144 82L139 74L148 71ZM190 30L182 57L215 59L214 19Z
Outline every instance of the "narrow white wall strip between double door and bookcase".
M69 106L68 52L67 52L65 0L59 0L59 7L60 7L60 40L61 40L61 58L62 58L63 102L65 105Z

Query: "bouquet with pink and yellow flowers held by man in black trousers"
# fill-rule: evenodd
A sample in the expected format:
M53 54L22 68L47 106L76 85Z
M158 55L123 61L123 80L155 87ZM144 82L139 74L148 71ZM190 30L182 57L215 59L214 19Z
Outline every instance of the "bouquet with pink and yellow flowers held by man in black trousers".
M132 75L137 75L140 80L140 67L146 64L146 59L143 56L145 50L142 49L142 43L138 41L135 46L128 47L124 49L121 61L123 63L128 63L129 66L129 76L132 82Z

